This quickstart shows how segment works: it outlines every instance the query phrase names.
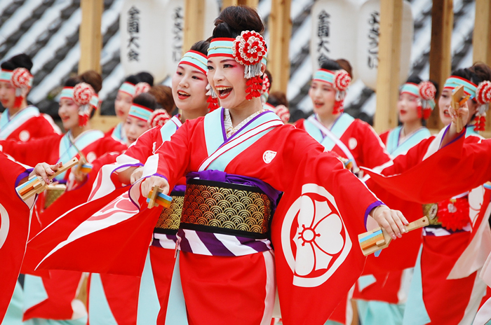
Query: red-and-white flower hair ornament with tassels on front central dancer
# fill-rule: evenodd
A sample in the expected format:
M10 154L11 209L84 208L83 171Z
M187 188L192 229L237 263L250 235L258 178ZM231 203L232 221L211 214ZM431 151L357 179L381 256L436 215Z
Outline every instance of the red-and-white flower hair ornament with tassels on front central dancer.
M245 90L248 94L246 99L260 97L262 92L261 67L262 57L266 55L266 42L261 34L254 31L243 31L237 36L232 45L232 55L236 62L243 64L244 78L248 79Z

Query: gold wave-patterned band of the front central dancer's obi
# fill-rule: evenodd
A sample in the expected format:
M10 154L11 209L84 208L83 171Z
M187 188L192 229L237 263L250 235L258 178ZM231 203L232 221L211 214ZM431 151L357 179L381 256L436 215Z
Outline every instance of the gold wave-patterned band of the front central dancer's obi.
M181 228L266 238L271 200L255 186L188 179Z

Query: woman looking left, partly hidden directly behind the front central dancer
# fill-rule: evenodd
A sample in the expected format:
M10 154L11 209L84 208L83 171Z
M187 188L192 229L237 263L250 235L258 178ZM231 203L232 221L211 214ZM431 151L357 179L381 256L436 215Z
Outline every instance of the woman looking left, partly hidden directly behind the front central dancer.
M191 50L184 54L173 75L172 95L182 114L174 116L163 126L144 132L126 153L116 158L118 163L112 168L113 170L121 165L134 166L122 172L116 171L124 184L130 183L132 173L133 179L140 178L138 175L141 174L142 169L135 172L136 167L142 166L163 142L169 141L182 123L208 113L206 95L208 45L209 42L200 41L191 46ZM134 99L135 101L137 98ZM159 109L159 111L163 110ZM128 118L131 115L130 110ZM129 122L126 121L125 127ZM128 139L131 139L131 131L126 130L126 134ZM173 189L173 205L161 214L154 229L152 245L149 247L141 279L125 275L92 274L90 276L88 295L90 324L187 324L182 293L178 292L179 272L174 272L176 233L180 222L184 188L185 180L182 179Z

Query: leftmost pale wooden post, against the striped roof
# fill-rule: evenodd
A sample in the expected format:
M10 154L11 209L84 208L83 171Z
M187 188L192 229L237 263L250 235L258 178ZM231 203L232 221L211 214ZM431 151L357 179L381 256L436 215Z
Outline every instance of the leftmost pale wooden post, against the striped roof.
M79 74L88 70L101 73L100 51L102 50L102 34L100 25L104 0L81 0L82 21L79 29L80 61Z

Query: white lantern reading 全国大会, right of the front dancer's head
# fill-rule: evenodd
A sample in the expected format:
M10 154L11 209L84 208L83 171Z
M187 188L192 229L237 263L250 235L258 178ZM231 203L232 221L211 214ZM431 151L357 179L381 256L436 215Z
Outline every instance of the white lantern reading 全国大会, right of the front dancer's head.
M359 1L356 1L359 2ZM359 5L358 5L359 6ZM326 58L345 59L356 67L356 4L347 0L318 0L311 10L310 55L312 71Z

